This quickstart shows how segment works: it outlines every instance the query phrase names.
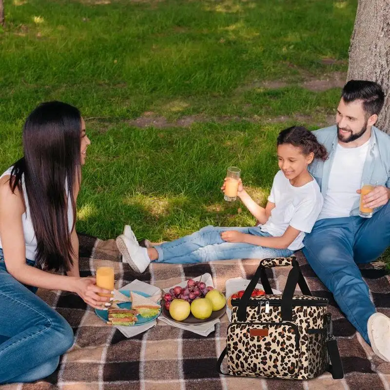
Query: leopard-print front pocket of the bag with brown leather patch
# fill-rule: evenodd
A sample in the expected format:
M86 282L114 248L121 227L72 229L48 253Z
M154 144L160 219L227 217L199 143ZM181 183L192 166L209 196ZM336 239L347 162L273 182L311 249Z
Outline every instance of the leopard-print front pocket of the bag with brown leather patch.
M227 339L230 373L288 378L299 369L299 332L292 322L232 323Z

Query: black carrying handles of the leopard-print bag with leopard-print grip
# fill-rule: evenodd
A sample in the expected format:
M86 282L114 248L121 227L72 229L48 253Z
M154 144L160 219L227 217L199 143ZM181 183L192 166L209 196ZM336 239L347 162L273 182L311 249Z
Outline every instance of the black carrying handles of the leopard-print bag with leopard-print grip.
M266 294L273 294L270 282L265 273L265 268L283 266L292 266L292 270L287 277L286 287L282 295L282 321L292 320L292 296L294 295L295 287L297 284L304 295L312 295L305 281L305 278L302 275L302 271L299 268L299 264L296 261L295 256L263 259L260 261L260 265L258 266L254 277L252 278L244 294L240 298L240 303L237 309L237 319L239 322L246 321L247 306L249 304L249 300L251 299L252 292L254 291L254 288L256 287L256 284L258 283L260 278Z

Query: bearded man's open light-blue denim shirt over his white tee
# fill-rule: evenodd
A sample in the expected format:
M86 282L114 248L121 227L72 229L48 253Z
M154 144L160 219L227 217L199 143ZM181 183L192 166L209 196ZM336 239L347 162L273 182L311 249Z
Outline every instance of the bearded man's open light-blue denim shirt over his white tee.
M326 161L321 161L316 158L309 166L309 171L315 180L317 180L321 188L321 193L325 198L328 191L329 175L331 173L334 153L338 143L337 127L334 125L325 129L315 130L313 134L326 147L329 153L329 158ZM344 167L337 168L344 169ZM390 188L390 137L374 126L371 127L370 147L366 162L364 163L362 177L370 178L376 181L377 185ZM375 209L374 212L379 209ZM359 199L353 204L350 215L359 215Z

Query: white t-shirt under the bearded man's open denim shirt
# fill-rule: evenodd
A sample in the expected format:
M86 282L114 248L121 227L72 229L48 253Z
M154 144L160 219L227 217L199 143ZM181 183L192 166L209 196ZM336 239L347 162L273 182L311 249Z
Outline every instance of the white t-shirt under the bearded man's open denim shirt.
M363 167L370 140L357 148L343 148L337 144L324 206L318 219L350 216L353 204L359 198Z

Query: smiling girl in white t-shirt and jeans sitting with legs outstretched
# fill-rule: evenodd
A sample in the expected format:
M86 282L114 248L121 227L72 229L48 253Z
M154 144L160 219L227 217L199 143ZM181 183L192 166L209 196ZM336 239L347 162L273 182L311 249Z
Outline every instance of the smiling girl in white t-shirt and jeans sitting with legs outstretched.
M301 249L305 233L311 232L323 203L308 165L313 158L325 160L327 151L309 130L293 126L281 131L277 137L277 157L280 171L273 179L265 208L254 202L241 181L238 187L237 196L257 219L257 226L206 226L194 234L154 248L140 247L127 228L126 234L117 237L123 261L142 273L151 261L198 263L234 258L263 259L290 256Z

